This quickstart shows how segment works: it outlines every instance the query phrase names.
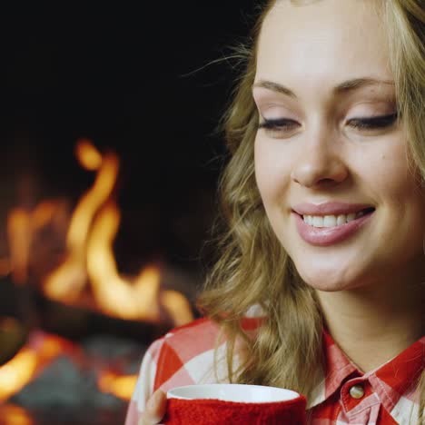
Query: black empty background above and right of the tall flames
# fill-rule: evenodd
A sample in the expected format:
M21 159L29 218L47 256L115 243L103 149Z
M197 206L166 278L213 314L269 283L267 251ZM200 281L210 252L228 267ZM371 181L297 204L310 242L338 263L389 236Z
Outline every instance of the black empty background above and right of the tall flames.
M94 178L74 159L87 137L122 161L117 256L137 268L155 256L195 262L225 153L215 130L238 74L234 61L205 65L246 39L254 4L2 6L2 227L13 205L76 202Z

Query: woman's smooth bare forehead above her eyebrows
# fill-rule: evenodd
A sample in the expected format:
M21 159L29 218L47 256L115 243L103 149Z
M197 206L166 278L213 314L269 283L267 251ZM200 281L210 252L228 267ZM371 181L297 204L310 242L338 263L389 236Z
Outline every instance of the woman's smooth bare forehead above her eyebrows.
M390 79L386 33L371 0L277 1L265 17L257 51L261 78ZM333 82L332 82L333 84Z

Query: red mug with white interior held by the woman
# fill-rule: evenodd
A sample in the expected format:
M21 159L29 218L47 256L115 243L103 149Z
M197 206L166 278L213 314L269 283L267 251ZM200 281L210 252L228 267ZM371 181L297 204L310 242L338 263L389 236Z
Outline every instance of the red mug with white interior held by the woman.
M304 425L298 392L262 385L188 385L167 392L166 425Z

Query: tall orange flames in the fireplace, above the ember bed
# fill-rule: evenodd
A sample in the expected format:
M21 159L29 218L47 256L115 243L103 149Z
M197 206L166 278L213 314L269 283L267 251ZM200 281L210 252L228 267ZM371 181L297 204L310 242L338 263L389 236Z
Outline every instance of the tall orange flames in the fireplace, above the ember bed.
M161 311L166 311L176 325L192 321L189 301L179 292L161 289L158 268L146 267L133 278L118 272L113 248L121 219L114 202L120 168L117 155L100 153L85 139L77 143L75 153L82 167L96 175L70 219L64 260L44 277L45 295L73 304L82 299L90 285L96 306L111 316L159 321ZM44 202L34 212L16 208L11 213L8 234L15 282L27 282L33 235L53 220L58 208L57 203Z

